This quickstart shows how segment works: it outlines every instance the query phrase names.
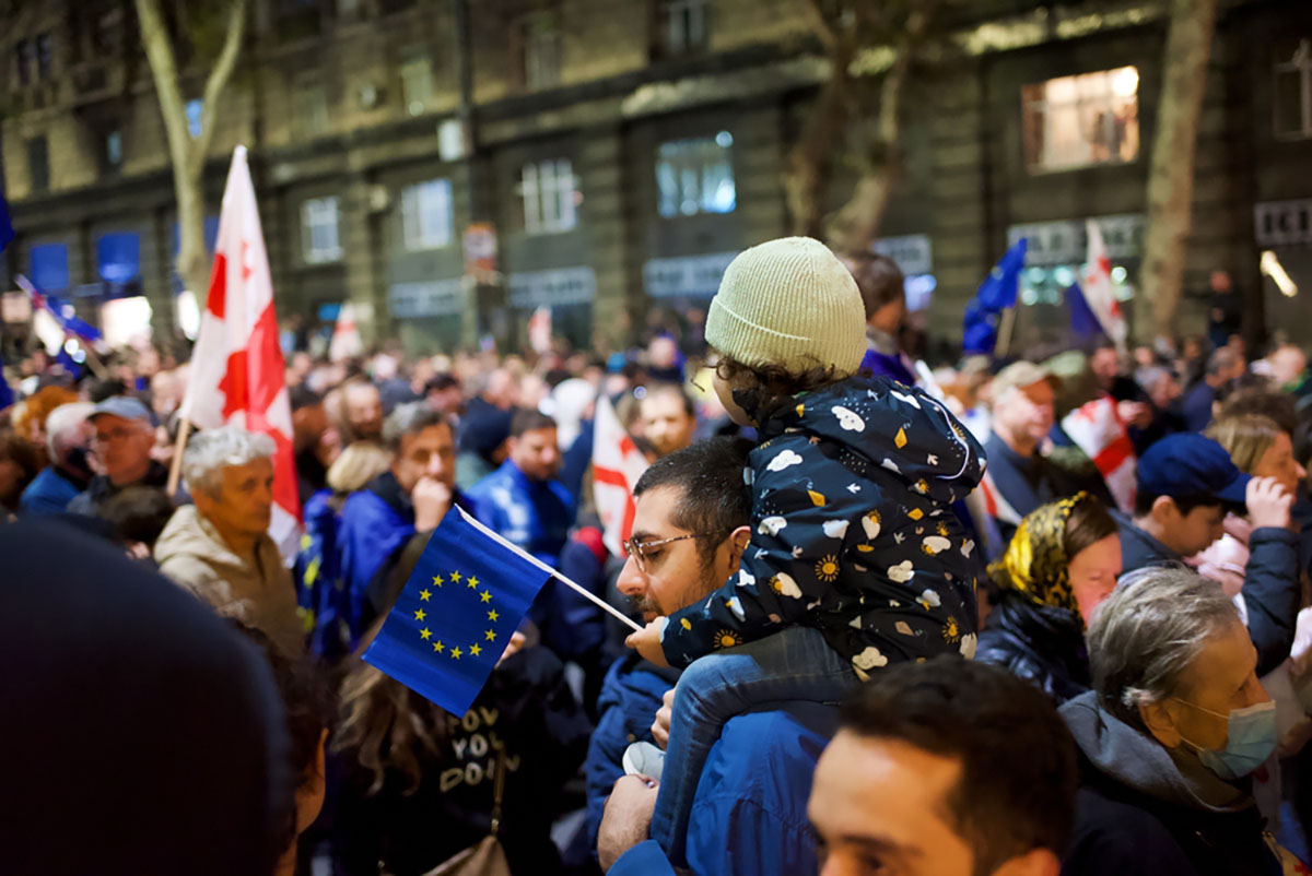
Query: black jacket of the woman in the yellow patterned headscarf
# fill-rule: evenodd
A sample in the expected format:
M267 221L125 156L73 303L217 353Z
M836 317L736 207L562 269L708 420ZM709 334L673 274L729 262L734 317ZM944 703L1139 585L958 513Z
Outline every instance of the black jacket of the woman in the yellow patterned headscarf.
M1033 683L1060 706L1089 690L1089 653L1073 611L1004 593L980 633L975 660Z

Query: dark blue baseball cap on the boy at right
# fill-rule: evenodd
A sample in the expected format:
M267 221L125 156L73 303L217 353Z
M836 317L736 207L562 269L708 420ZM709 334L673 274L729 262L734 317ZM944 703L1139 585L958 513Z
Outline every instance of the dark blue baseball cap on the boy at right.
M1139 492L1153 496L1215 496L1242 505L1249 480L1224 447L1193 431L1168 435L1139 458Z

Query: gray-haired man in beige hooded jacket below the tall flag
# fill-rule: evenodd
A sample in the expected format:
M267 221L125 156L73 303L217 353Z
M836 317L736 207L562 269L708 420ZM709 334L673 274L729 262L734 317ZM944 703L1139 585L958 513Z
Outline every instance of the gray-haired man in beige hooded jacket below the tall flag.
M160 572L219 614L261 629L290 654L304 650L297 593L269 538L273 439L236 426L192 437L182 455L194 505L173 513L155 543Z

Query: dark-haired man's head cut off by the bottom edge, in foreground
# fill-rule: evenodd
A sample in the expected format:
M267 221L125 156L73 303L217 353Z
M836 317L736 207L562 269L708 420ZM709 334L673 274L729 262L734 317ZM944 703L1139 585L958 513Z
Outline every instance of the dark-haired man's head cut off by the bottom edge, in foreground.
M887 666L844 704L808 814L821 876L1056 876L1075 744L1052 702L993 666Z

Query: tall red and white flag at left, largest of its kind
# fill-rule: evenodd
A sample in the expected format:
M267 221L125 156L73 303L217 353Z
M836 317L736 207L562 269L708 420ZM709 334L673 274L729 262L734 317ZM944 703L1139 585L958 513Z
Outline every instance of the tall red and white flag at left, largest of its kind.
M291 454L291 404L273 312L273 281L244 146L232 153L219 214L210 296L192 353L181 414L197 429L227 424L273 438L273 519L269 535L295 553L300 500Z

